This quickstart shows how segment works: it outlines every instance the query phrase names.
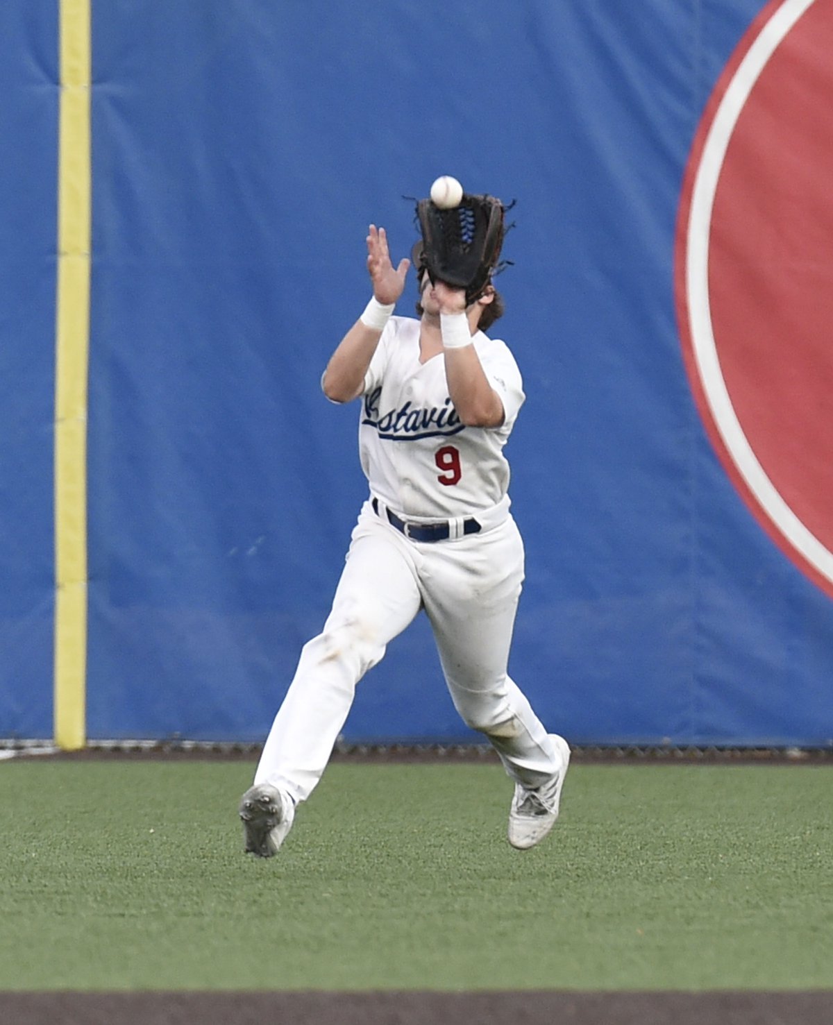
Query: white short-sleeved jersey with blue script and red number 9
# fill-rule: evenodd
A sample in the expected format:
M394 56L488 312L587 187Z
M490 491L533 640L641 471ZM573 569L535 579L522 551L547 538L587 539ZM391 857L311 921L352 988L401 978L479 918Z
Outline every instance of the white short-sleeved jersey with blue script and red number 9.
M499 427L467 427L457 415L440 353L420 363L420 321L392 317L364 378L359 456L370 490L405 517L450 519L497 505L507 494L504 456L524 401L505 342L478 331L473 343L504 405Z

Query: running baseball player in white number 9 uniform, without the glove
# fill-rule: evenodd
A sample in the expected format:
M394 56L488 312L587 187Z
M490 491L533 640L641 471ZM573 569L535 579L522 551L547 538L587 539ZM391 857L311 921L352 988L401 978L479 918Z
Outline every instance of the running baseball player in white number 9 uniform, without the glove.
M503 450L524 394L509 348L484 333L503 312L491 283L497 253L467 290L440 280L418 243L417 320L393 316L411 260L394 268L383 228L371 224L366 242L372 298L322 387L335 403L361 400L369 494L332 609L302 650L241 798L245 850L277 853L324 772L357 683L421 612L457 710L515 782L509 843L531 848L558 817L569 747L507 674L524 568Z

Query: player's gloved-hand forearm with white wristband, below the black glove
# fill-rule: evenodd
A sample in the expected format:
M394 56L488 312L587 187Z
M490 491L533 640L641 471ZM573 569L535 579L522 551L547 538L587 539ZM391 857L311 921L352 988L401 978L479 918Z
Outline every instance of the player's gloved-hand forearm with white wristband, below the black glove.
M434 288L440 304L445 379L457 414L467 427L500 427L506 416L503 400L486 377L471 342L479 316L476 311L466 310L466 293L462 289L439 281ZM465 343L466 332L468 343Z

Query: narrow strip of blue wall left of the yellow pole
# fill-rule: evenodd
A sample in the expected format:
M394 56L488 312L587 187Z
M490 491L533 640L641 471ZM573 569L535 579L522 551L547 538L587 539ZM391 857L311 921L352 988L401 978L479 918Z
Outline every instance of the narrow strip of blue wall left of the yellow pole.
M0 736L52 733L53 0L0 5Z

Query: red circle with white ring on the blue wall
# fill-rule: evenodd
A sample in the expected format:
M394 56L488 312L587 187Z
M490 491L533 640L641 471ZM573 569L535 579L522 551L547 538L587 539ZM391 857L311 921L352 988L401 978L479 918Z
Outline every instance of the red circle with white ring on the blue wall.
M686 369L738 490L833 597L833 0L776 0L706 107L683 180Z

